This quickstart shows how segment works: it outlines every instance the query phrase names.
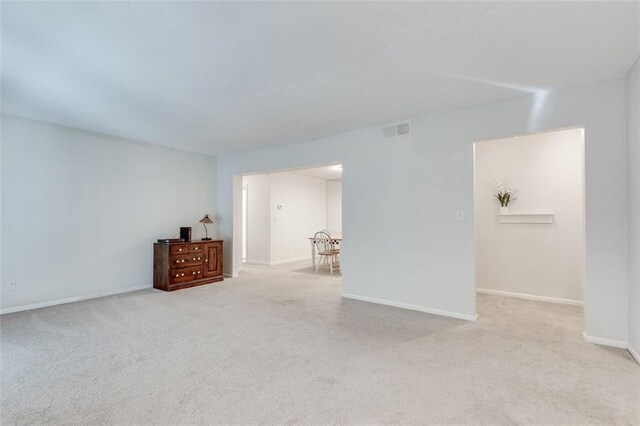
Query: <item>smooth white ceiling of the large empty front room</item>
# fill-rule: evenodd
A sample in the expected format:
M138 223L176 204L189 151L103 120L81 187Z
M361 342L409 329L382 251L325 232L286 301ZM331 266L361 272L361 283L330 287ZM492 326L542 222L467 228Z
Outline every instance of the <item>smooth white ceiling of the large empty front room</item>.
M621 77L633 2L3 2L5 113L220 154Z

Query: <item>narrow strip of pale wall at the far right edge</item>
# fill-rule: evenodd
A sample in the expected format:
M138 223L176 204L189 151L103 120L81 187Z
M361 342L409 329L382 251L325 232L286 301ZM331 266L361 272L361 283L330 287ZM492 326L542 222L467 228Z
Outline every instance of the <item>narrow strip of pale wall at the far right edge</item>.
M640 59L627 75L629 164L629 346L640 357ZM640 360L639 360L640 362Z

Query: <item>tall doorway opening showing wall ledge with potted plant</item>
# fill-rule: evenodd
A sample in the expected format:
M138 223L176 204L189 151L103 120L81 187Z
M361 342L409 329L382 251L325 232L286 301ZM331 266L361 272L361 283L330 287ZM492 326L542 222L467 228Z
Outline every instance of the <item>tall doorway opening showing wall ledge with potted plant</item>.
M474 144L479 316L584 329L584 141L570 128Z

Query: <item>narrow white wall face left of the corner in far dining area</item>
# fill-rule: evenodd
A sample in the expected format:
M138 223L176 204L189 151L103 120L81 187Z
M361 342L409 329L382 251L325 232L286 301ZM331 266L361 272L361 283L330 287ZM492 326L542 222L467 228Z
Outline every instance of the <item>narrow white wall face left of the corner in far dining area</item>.
M247 261L271 261L271 185L268 175L243 177L247 188Z

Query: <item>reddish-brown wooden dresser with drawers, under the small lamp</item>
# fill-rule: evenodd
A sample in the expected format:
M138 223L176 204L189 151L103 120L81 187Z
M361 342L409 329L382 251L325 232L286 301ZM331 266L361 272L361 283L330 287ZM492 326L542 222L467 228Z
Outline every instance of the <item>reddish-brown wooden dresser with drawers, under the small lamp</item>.
M153 245L154 288L173 291L222 280L221 240Z

